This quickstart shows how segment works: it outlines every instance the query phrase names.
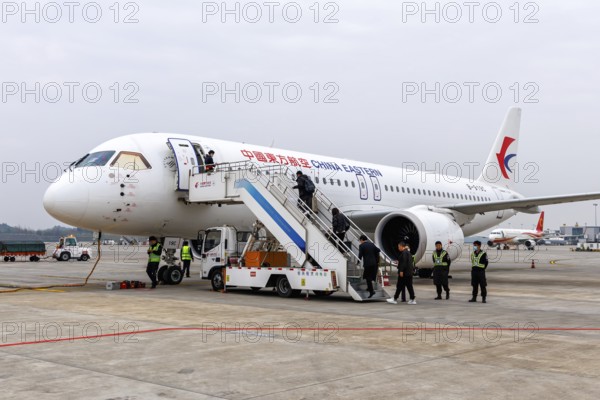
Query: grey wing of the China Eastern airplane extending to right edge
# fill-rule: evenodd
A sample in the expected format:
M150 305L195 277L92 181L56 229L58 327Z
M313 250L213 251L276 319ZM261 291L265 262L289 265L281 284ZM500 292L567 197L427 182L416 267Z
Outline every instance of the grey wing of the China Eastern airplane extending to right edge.
M574 203L577 201L600 199L600 192L570 194L563 196L529 197L524 199L498 200L485 203L458 203L437 206L458 211L463 214L481 214L492 211L514 209L523 213L537 214L539 206Z

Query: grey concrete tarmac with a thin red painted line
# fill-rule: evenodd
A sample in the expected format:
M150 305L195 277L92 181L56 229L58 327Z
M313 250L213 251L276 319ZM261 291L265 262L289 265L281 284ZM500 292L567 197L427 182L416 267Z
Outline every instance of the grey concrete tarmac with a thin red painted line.
M416 306L215 293L197 264L179 286L107 291L148 282L131 247L104 247L85 287L9 292L80 283L93 260L0 263L2 397L597 398L600 253L491 251L488 304L467 302L465 258L450 300L416 279Z

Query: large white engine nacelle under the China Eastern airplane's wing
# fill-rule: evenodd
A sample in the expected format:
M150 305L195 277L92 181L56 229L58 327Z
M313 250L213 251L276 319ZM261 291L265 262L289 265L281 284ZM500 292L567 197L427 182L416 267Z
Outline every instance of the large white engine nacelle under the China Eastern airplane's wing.
M426 206L386 215L375 229L375 243L390 258L397 260L398 242L408 237L408 244L419 266L433 266L431 257L423 258L435 250L435 242L442 242L452 260L461 256L465 236L451 215L430 211Z

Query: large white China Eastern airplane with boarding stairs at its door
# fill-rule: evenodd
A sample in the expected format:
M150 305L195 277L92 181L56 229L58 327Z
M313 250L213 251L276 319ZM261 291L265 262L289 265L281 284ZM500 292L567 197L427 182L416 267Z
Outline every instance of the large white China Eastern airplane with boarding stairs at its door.
M229 224L250 228L243 205L190 204L190 170L215 151L215 163L249 160L287 164L312 177L318 190L394 258L409 238L420 266L437 240L462 246L464 237L539 206L600 199L600 193L525 198L512 189L521 110L508 111L481 176L421 174L398 167L173 133L142 133L100 144L74 162L44 195L44 207L65 224L119 235L196 238ZM179 179L182 177L182 179ZM457 257L456 255L455 257Z

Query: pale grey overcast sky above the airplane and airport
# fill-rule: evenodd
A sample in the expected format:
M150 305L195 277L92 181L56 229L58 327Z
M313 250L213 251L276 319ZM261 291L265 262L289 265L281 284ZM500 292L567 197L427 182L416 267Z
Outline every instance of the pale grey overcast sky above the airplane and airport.
M442 2L436 22L435 13L417 9L421 1L322 1L317 7L315 0L280 1L272 17L262 1L242 1L239 23L235 12L222 13L221 1L124 1L118 15L114 3L97 3L102 17L92 23L94 4L81 2L71 10L59 2L59 18L56 7L42 2L37 23L21 2L2 2L0 222L57 224L42 207L48 180L56 175L44 166L73 161L124 134L169 131L274 143L393 166L483 163L515 105L523 108L518 161L539 166L539 182L518 189L528 196L600 191L598 2L523 1L515 8L510 0L480 2L473 9L463 2L444 8ZM235 2L226 4L235 10ZM292 23L298 10L302 16ZM502 15L493 23L497 11ZM21 83L35 92L37 82L46 86L40 102L31 93L23 99ZM228 88L257 82L263 97L252 103L256 92L250 85L239 103L234 95L222 102L220 95L203 92L211 82ZM272 102L264 82L279 84ZM434 94L423 101L419 94L407 95L411 82L430 89L439 82L448 90L440 90L439 103ZM462 86L458 101L452 82ZM472 99L464 82L474 82ZM297 102L293 91L284 97L286 84L301 88ZM56 86L62 88L58 101ZM95 87L102 95L92 103ZM137 103L126 102L127 95ZM39 174L22 176L36 163ZM592 203L546 207L546 224L591 225ZM509 222L530 228L537 216Z

